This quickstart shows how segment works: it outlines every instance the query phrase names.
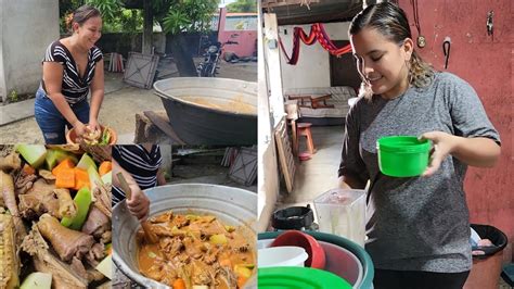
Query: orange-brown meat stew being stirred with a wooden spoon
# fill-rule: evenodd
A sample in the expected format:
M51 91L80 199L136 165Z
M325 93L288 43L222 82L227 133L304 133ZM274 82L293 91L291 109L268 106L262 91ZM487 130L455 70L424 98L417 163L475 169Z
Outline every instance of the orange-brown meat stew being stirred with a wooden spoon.
M181 279L188 289L202 285L228 289L242 288L254 272L255 250L242 228L226 226L213 215L171 211L150 222L159 242L138 238L139 267L149 278L168 286Z

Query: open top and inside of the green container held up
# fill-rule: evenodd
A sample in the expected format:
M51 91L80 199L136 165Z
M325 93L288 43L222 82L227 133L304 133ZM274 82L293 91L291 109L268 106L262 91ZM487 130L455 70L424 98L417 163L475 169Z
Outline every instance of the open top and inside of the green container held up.
M415 136L383 137L376 141L376 148L382 151L396 153L427 152L431 149L428 140L419 140Z

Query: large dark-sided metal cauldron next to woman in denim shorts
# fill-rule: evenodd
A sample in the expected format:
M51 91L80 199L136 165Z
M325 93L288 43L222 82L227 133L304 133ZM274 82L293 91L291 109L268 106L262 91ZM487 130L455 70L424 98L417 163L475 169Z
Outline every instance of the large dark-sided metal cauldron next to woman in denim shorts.
M174 77L156 81L154 89L163 101L171 127L185 143L257 143L256 83Z

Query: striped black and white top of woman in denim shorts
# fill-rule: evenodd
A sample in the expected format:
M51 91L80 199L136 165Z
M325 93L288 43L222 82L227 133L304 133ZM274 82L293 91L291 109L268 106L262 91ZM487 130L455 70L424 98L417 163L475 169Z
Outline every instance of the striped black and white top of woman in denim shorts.
M74 104L87 99L89 86L93 80L94 68L102 58L102 51L98 47L92 47L88 52L88 66L83 72L83 76L80 77L72 52L61 41L56 40L47 48L43 62L59 62L64 66L61 90L66 101ZM42 80L41 84L44 89Z

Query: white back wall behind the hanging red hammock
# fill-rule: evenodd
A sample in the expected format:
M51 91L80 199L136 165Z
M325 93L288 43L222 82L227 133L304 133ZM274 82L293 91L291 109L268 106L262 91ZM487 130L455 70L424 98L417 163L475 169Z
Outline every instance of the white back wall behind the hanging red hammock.
M348 22L326 23L323 25L332 40L348 40ZM279 27L280 37L287 54L293 52L294 27L301 27L309 35L310 25L284 25ZM284 32L287 32L285 35ZM283 51L282 56L282 85L288 88L329 87L330 86L330 54L316 41L311 46L301 40L298 63L290 65Z

